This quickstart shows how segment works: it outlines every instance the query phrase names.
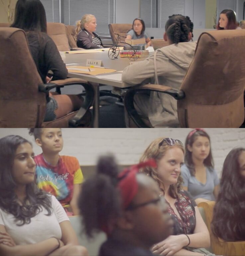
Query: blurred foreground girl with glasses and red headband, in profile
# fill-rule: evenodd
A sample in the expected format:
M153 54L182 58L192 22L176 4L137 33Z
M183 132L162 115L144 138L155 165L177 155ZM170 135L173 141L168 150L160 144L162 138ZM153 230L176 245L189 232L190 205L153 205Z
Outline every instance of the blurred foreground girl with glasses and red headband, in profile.
M90 238L98 231L107 234L100 256L152 255L150 247L172 233L158 186L138 174L144 165L156 164L150 161L118 174L114 158L102 157L96 175L83 183L78 204L85 232Z

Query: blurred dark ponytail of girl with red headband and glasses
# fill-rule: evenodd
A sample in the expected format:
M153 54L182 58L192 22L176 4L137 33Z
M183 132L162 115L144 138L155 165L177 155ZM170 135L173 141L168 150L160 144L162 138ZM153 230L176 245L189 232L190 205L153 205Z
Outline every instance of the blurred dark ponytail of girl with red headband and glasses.
M118 173L114 157L103 156L98 160L97 173L82 185L78 206L90 238L98 231L108 231L111 221L121 214Z

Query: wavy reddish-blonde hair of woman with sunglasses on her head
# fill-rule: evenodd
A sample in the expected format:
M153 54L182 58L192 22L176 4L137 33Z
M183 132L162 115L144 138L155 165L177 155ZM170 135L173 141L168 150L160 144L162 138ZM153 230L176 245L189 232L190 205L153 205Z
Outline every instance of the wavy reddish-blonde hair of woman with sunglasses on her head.
M158 164L158 162L165 156L167 150L170 149L170 148L173 148L173 147L180 148L184 153L184 146L179 144L179 143L175 144L174 146L171 146L171 145L168 145L168 144L163 144L163 145L159 146L159 143L163 139L164 139L164 137L155 139L148 146L148 148L145 150L145 152L141 156L140 162L145 162L149 159L154 159L156 161L156 163ZM140 172L152 177L158 183L159 188L163 192L163 194L165 194L164 189L162 189L162 186L164 187L163 181L159 177L159 174L158 174L158 171L157 171L156 168L144 167L144 168L141 168ZM179 175L177 183L173 184L173 185L170 185L169 195L171 197L173 197L173 198L178 197L178 193L182 189L182 183L183 183L183 178Z

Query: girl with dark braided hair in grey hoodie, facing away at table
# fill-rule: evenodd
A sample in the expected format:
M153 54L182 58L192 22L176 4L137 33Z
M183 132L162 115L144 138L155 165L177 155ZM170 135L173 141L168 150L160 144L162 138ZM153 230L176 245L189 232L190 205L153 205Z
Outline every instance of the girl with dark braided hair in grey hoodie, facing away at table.
M170 16L163 36L167 46L157 49L144 61L126 67L122 81L129 84L155 83L180 90L196 49L192 31L193 23L188 16ZM137 93L134 107L152 127L179 127L177 101L168 94ZM127 116L125 118L126 126L129 126Z

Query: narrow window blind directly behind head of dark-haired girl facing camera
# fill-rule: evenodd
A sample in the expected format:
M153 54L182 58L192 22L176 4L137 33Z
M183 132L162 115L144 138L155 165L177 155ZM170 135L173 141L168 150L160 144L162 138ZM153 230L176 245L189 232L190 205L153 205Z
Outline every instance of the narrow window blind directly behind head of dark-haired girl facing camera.
M157 0L140 0L140 18L144 20L146 28L156 28Z

